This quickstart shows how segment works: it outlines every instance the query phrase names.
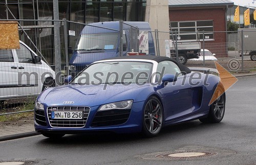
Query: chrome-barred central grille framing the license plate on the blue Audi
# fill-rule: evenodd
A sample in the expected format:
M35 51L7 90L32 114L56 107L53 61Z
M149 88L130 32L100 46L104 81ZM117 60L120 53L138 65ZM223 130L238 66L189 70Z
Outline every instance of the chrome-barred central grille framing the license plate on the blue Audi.
M82 119L52 119L52 111L83 111ZM90 112L90 107L78 107L78 106L56 106L48 107L47 113L50 125L52 127L61 128L81 128L86 125L86 121Z

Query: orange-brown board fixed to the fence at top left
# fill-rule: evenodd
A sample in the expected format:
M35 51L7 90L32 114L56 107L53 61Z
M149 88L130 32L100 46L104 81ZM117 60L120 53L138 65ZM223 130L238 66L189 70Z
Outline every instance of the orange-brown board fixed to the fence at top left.
M0 32L0 50L19 49L16 21L0 21Z

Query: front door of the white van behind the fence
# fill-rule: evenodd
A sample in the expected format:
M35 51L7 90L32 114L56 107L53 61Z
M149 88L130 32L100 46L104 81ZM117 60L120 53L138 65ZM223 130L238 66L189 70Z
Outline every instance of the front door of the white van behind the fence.
M20 49L15 50L18 58L18 79L19 95L37 95L40 93L39 89L39 67L34 63L32 51L23 43L20 43Z

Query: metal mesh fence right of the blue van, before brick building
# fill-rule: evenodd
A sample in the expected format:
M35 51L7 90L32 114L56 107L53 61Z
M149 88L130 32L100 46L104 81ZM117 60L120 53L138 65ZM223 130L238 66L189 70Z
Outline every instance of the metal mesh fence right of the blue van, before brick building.
M253 71L256 68L256 31L254 29L241 29L236 32L160 32L158 36L169 35L170 56L174 59L187 56L187 66L214 67L217 60L229 71ZM167 56L166 40L157 41L157 50L161 56ZM198 46L201 49L198 52ZM205 50L205 51L203 51ZM176 56L178 54L178 56ZM198 54L199 58L189 56ZM214 54L214 56L212 56ZM173 55L173 56L172 56ZM251 57L252 55L252 57ZM254 56L253 56L254 55ZM215 59L215 58L216 59ZM251 58L255 58L251 60ZM178 58L177 58L178 59ZM234 61L236 60L236 61ZM234 63L236 62L236 63Z

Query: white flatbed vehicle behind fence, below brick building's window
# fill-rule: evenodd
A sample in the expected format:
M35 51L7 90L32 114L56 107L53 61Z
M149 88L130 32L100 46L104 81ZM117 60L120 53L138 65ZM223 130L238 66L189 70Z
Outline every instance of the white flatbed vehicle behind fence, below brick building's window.
M176 59L178 50L178 61L185 64L188 59L199 58L201 42L176 42L170 40L170 58Z

